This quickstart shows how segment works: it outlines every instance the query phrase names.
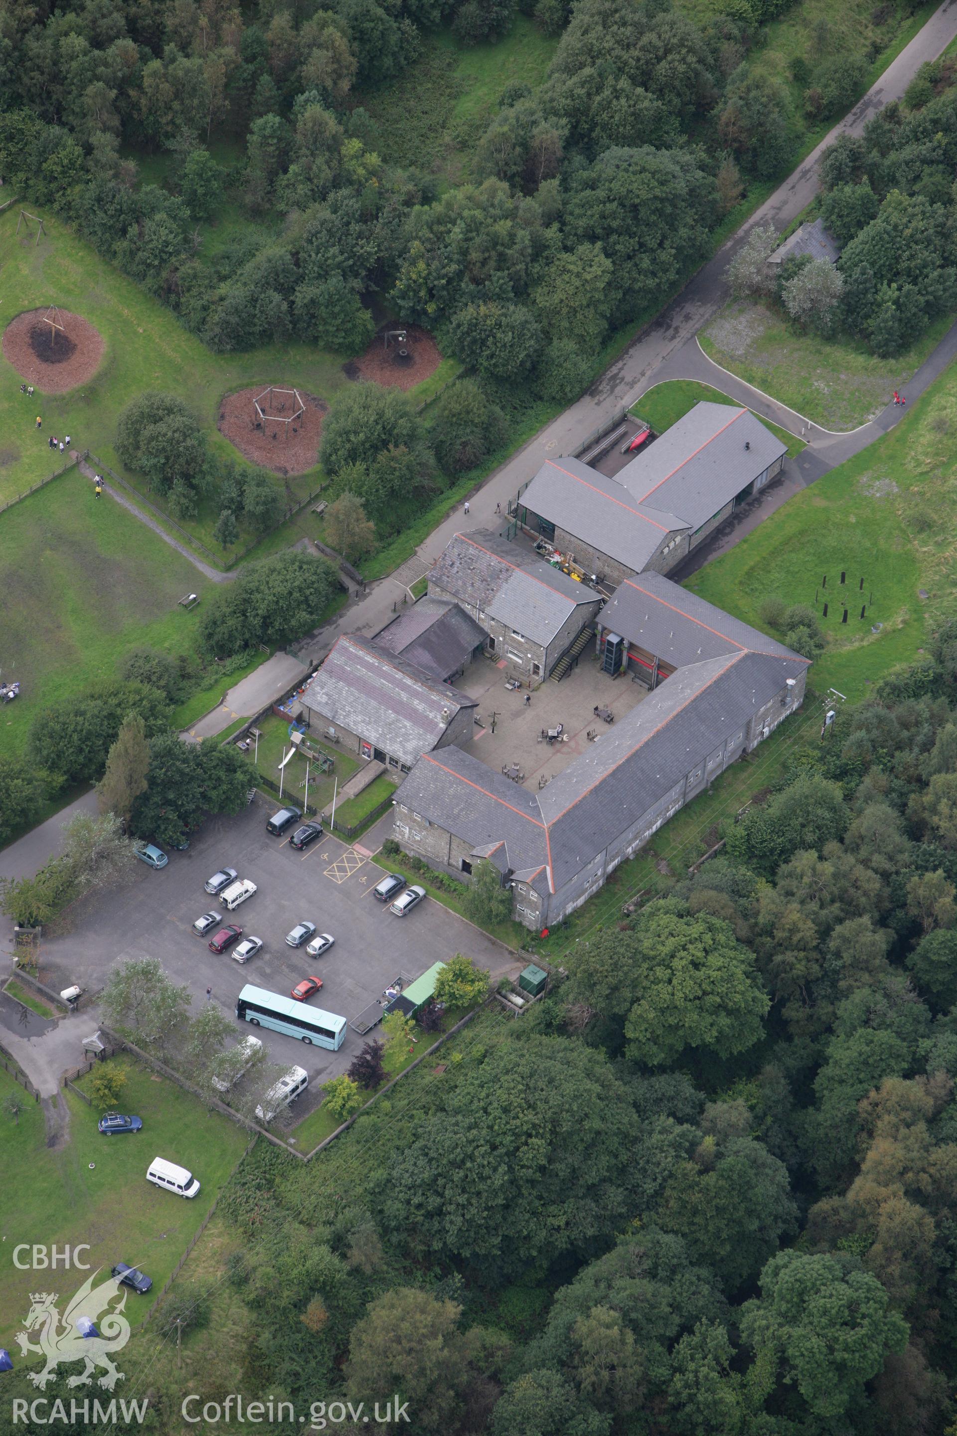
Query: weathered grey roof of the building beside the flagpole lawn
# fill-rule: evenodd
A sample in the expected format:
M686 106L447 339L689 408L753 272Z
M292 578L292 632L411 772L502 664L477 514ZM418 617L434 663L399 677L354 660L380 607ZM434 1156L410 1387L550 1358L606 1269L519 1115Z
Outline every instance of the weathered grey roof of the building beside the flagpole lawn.
M301 701L409 765L439 742L461 708L476 705L356 633L336 639Z

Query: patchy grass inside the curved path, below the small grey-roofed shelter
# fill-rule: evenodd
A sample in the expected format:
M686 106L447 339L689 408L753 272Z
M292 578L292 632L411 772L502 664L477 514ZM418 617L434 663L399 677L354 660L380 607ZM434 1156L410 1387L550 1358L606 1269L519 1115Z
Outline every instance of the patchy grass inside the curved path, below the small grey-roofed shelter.
M763 304L732 300L697 336L702 349L746 383L825 429L855 429L907 391L914 370L950 329L938 319L907 353L877 359L864 343L792 329Z

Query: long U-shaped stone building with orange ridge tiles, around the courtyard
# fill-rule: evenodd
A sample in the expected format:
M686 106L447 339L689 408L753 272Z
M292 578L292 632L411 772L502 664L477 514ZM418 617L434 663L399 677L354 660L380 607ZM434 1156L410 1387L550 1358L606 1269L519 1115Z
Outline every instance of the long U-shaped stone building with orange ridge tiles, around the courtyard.
M395 800L406 852L453 872L488 859L535 931L585 902L803 701L806 659L659 574L623 584L598 623L600 652L617 632L630 666L650 659L636 672L651 692L547 787L528 791L445 747L423 752Z

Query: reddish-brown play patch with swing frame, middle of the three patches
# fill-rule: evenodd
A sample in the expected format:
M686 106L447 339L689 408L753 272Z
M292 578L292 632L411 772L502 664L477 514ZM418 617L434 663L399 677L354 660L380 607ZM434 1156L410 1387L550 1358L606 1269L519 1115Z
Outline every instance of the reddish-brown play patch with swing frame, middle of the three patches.
M217 428L253 464L286 478L319 460L327 404L291 385L260 385L227 393Z

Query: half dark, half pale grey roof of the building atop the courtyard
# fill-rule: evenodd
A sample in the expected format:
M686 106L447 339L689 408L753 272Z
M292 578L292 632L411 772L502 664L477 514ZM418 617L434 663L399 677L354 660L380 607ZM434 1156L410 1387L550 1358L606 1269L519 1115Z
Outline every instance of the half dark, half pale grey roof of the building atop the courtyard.
M429 572L433 586L547 648L562 623L598 595L486 530L455 534Z

